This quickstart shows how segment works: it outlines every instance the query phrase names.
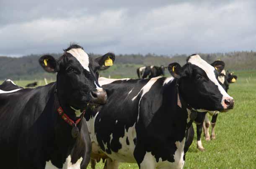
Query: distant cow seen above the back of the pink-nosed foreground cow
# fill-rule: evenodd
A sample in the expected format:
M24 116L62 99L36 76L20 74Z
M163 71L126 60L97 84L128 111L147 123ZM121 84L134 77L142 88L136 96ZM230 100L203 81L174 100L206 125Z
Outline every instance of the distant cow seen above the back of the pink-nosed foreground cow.
M162 65L158 66L144 66L137 69L137 74L139 78L154 78L157 76L165 75L165 67Z

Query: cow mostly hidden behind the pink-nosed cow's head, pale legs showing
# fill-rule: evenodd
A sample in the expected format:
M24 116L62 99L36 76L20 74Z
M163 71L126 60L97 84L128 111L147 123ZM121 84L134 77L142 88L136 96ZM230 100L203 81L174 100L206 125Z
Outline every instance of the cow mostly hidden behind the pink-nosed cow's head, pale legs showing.
M227 74L226 74L225 70L219 69L219 71L220 71L220 74L218 76L218 82L225 89L225 91L228 92L229 84L234 83L237 79L237 76L233 75L232 73L229 73L228 71L227 71ZM212 116L211 139L215 139L215 123L216 123L217 116L218 116L219 112L214 111L214 112L208 112L208 113ZM202 145L202 141L201 141L202 128L204 128L204 135L205 135L206 141L210 140L210 136L209 136L210 122L209 122L208 117L206 116L206 114L207 114L207 112L202 112L200 114L197 114L197 118L194 120L194 122L197 124L197 149L199 149L200 151L205 150L203 145ZM191 136L191 137L194 137L194 135Z

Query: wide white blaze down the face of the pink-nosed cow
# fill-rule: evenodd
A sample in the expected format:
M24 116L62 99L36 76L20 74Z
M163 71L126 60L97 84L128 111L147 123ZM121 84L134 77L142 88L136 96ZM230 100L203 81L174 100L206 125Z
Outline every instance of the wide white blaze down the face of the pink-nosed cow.
M211 66L209 63L207 63L206 61L204 61L199 55L191 56L188 60L188 63L194 64L205 71L209 80L215 83L216 86L218 86L218 89L222 94L221 104L224 109L227 108L227 106L224 103L224 100L226 98L231 98L231 99L233 98L228 95L228 93L224 90L224 88L222 88L222 86L220 86L220 83L217 81L217 78L215 77L215 73L214 73L215 68Z

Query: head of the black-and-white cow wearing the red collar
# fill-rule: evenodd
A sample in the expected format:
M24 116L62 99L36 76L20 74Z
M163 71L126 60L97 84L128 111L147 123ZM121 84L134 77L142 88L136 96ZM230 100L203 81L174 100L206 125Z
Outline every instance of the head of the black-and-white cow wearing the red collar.
M106 103L106 91L98 84L98 70L108 68L105 61L114 61L115 55L107 53L93 59L79 45L71 45L64 51L58 60L51 55L39 59L45 71L57 72L58 96L76 109L83 109L88 103Z

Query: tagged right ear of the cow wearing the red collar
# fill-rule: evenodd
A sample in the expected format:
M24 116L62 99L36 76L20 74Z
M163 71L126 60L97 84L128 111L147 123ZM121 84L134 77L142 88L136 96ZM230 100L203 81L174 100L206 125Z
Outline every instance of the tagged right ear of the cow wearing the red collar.
M105 55L96 58L96 61L101 66L99 70L103 71L112 66L115 61L115 58L116 56L114 53L106 53Z

